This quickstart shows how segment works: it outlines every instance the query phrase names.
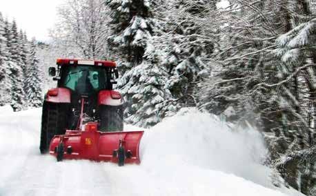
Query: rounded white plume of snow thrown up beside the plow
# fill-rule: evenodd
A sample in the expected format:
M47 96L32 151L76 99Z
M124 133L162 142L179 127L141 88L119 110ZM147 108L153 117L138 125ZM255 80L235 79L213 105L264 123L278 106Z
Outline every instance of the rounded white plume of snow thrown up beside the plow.
M149 132L141 144L144 166L198 166L270 184L262 181L267 170L261 161L267 150L256 130L232 131L216 117L193 109L162 121Z

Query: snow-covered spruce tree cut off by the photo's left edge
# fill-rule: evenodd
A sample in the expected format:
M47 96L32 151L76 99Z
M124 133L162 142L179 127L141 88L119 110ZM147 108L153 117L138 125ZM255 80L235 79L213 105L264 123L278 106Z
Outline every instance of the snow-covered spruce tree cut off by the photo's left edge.
M5 21L0 12L0 106L10 104L10 69L8 67L8 49L5 35Z

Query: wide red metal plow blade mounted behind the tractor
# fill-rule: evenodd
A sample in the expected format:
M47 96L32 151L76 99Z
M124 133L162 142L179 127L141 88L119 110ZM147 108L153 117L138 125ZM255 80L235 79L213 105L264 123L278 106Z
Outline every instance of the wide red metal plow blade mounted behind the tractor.
M50 154L62 159L110 161L119 165L140 164L139 144L144 131L102 133L67 130L50 142Z

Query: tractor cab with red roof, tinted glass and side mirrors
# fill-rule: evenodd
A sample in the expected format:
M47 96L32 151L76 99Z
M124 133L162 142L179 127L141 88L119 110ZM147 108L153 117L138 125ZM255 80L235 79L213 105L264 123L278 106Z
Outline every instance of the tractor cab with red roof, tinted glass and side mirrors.
M68 88L78 95L93 95L99 90L112 90L118 71L112 61L81 61L57 59L57 70L50 68L50 76L59 88Z

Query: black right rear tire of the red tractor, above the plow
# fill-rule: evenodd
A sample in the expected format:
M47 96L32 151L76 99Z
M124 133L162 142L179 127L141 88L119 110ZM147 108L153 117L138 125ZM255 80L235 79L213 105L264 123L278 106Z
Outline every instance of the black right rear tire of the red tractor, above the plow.
M124 129L123 106L100 106L99 116L101 119L99 130L112 132Z

